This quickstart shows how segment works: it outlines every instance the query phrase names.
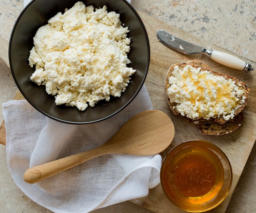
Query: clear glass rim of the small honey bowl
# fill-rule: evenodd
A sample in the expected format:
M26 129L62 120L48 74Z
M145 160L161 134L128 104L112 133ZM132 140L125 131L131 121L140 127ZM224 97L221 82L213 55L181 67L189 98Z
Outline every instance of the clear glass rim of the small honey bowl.
M167 157L169 156L169 154L170 154L174 149L176 149L177 147L184 145L184 143L193 142L193 141L199 141L199 142L202 142L202 143L208 143L208 144L214 146L214 147L225 157L225 160L227 161L228 167L229 167L229 169L230 169L230 183L229 183L229 186L228 186L228 188L227 188L227 190L226 190L225 195L224 195L224 196L219 200L219 202L216 203L215 205L210 206L210 207L205 208L205 209L200 209L200 210L186 209L186 208L183 208L182 206L178 205L177 203L175 203L175 202L174 202L171 198L169 198L169 196L167 195L167 193L166 193L166 191L165 191L165 189L164 189L163 183L162 183L163 165L164 165L165 160L166 160ZM229 161L227 155L226 155L217 145L215 145L214 143L209 142L209 141L205 141L205 140L200 140L200 139L187 140L187 141L184 141L184 142L178 144L177 146L173 147L173 148L168 152L168 154L164 157L164 159L163 159L163 161L162 161L162 164L161 164L161 169L160 169L160 182L161 182L161 187L162 187L162 189L163 189L163 191L164 191L165 196L168 198L168 200L169 200L172 204L174 204L174 205L177 206L178 208L180 208L180 209L182 209L182 210L184 210L184 211L187 211L187 212L205 212L205 211L209 211L209 210L211 210L211 209L217 207L218 205L220 205L220 204L225 200L225 198L228 196L228 194L229 194L229 192L230 192L230 189L231 189L232 182L233 182L233 170L232 170L232 166L231 166L231 163L230 163L230 161Z

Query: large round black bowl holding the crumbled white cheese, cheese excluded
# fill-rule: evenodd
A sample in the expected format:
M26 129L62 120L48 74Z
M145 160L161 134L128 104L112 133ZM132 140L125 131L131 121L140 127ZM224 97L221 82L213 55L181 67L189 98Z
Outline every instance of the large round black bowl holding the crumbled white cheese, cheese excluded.
M29 66L29 51L33 37L39 27L65 8L71 8L77 0L34 0L18 17L10 37L9 62L13 78L26 100L38 111L57 121L71 124L86 124L106 119L125 108L139 93L145 81L149 62L150 46L146 29L137 12L126 0L84 0L86 6L94 8L107 6L107 11L120 14L121 22L129 28L131 51L128 58L130 67L136 69L126 90L120 98L100 101L94 107L79 111L76 107L56 106L54 96L48 95L45 86L38 86L30 80L34 68Z

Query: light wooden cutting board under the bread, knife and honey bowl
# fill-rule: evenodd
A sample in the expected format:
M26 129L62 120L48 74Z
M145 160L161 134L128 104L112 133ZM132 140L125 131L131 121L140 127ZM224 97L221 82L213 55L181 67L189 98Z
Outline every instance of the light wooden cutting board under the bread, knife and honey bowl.
M208 59L205 55L197 54L188 56L183 55L181 53L177 53L165 47L157 40L156 33L159 29L164 29L177 37L180 37L192 43L196 43L198 45L202 45L205 48L221 50L227 53L230 52L214 44L205 42L200 38L194 37L187 32L177 29L176 27L170 26L162 21L154 19L141 12L138 13L141 16L147 29L151 48L150 67L145 84L148 89L154 109L166 112L171 117L175 125L175 137L173 143L161 155L162 157L164 157L169 152L169 150L172 149L174 146L180 144L181 142L192 139L207 140L220 147L228 156L233 169L233 184L228 197L221 205L219 205L218 207L211 211L223 213L225 212L228 206L230 198L234 192L234 189L243 171L247 158L256 140L256 71L245 73L243 71L234 70L222 66L212 61L211 59ZM8 41L1 38L0 44L0 57L3 58L3 60L5 60L7 64L9 64L7 55ZM256 68L255 62L247 60L243 57L239 58L247 61L254 68ZM249 102L244 109L245 119L241 127L236 131L222 136L202 135L198 132L195 126L189 124L184 119L175 116L170 110L166 100L164 88L166 72L169 69L169 67L174 63L186 62L188 60L193 59L198 59L205 62L214 71L222 72L224 74L232 75L238 78L240 81L245 82L250 88L251 91L249 94ZM15 99L24 98L20 94L20 92L17 91ZM0 143L5 144L4 122L1 125L0 129ZM175 207L171 202L169 202L169 200L165 197L160 184L157 187L150 189L148 196L132 200L132 202L157 213L184 212Z

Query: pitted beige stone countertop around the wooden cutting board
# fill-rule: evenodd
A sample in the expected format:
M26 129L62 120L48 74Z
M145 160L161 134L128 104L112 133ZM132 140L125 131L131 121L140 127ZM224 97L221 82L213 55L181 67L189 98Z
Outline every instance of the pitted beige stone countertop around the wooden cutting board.
M132 0L136 10L176 26L197 37L256 61L255 0ZM23 8L22 0L0 1L0 35L9 39L12 26ZM210 47L209 47L210 48ZM11 100L17 87L10 69L0 59L0 101ZM2 110L0 121L3 120ZM0 212L50 213L37 205L14 184L6 164L5 146L0 145ZM256 144L229 203L228 213L256 212ZM123 202L94 213L152 213L132 202Z

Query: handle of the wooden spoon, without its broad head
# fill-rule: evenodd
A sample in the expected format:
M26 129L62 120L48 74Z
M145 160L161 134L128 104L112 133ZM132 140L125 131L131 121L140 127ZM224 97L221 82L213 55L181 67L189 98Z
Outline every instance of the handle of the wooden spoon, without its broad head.
M23 179L27 183L36 183L40 180L51 177L59 172L83 163L91 158L102 154L107 154L102 153L98 148L31 167L25 171Z

